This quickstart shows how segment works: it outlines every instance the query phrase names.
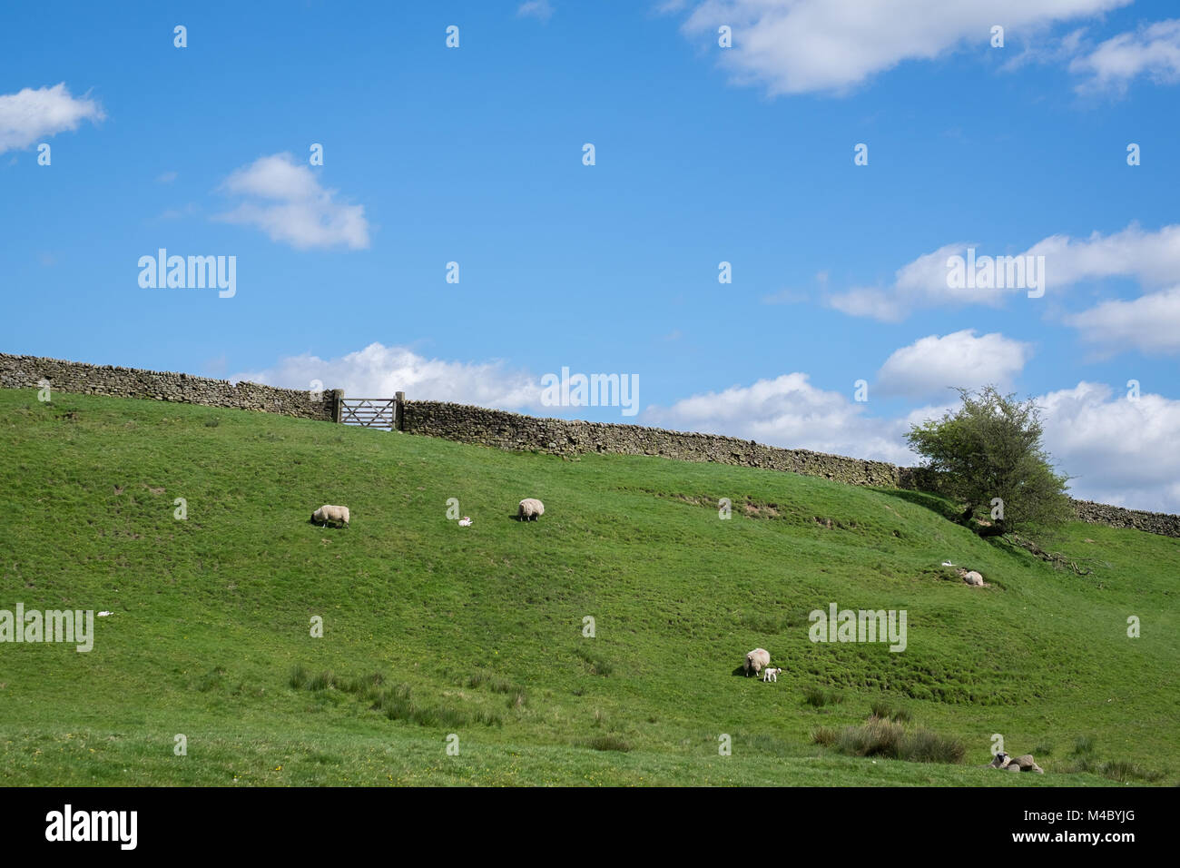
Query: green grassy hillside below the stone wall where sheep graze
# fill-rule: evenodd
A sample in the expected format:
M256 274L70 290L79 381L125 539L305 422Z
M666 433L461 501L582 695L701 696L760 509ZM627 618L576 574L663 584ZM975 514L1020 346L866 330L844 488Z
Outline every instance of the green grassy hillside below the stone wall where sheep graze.
M766 470L32 390L0 391L0 608L112 612L90 653L0 645L9 784L1180 778L1178 540L1069 526L1058 549L1109 564L1079 576L935 498ZM510 520L525 496L540 521ZM321 503L352 527L310 524ZM811 642L831 602L905 609L906 650ZM756 646L778 684L735 674ZM814 743L873 703L964 762ZM1048 774L978 768L992 733Z

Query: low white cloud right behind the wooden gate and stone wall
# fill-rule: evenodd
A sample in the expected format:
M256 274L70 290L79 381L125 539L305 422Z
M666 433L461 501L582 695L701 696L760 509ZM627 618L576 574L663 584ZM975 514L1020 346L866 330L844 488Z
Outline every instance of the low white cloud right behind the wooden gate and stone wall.
M287 389L310 389L313 380L320 380L324 389L343 389L346 398L392 398L394 392L405 392L409 400L450 400L502 410L540 403L539 380L526 371L509 370L500 361L427 359L406 347L381 344L335 359L291 355L230 380Z

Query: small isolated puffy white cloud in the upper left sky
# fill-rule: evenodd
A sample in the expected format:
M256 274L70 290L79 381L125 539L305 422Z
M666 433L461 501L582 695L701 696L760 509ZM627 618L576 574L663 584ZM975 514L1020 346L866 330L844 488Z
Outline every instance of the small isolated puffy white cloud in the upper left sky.
M300 249L359 250L369 244L365 205L336 202L336 190L322 188L312 169L296 163L290 154L260 157L231 174L222 189L255 201L215 220L256 226L273 241Z

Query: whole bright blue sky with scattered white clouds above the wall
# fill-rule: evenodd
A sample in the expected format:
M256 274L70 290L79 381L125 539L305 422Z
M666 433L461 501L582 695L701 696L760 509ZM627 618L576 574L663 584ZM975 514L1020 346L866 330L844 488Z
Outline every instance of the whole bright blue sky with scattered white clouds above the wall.
M0 350L899 463L949 386L998 383L1075 496L1180 511L1178 18L7 5ZM1043 296L948 289L969 244L1043 255ZM159 248L234 256L234 296L142 287ZM637 415L545 405L563 367L637 377Z

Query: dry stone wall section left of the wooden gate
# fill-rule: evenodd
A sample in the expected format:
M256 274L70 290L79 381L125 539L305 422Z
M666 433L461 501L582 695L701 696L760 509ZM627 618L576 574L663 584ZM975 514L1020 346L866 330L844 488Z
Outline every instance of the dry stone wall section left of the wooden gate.
M258 410L301 419L336 419L343 393L324 391L321 396L295 389L276 389L257 383L231 384L185 373L145 371L138 367L87 365L37 355L0 353L0 389L37 389L50 381L53 391L106 394L114 398L173 400L234 410Z

